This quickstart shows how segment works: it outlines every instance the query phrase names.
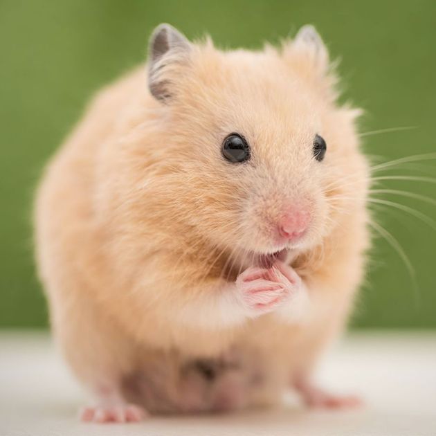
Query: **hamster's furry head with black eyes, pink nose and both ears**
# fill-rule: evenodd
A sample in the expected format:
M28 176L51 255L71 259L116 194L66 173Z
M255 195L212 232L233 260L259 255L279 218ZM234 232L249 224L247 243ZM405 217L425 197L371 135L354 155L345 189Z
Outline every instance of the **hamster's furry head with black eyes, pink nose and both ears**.
M312 26L280 48L223 52L163 24L152 35L148 72L164 132L155 145L165 167L161 222L171 217L177 234L277 257L322 244L364 207L358 111L336 102L336 78Z

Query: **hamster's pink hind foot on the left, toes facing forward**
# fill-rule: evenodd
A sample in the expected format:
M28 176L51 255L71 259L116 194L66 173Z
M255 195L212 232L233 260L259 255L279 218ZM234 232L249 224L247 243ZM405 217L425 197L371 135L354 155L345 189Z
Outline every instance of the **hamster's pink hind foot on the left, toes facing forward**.
M147 416L147 412L134 404L111 404L85 407L80 412L80 419L84 422L139 422Z

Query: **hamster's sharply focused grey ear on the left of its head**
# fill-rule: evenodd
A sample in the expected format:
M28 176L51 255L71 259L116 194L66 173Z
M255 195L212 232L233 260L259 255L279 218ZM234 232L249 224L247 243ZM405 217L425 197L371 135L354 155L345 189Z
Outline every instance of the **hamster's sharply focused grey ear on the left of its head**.
M172 76L189 60L192 44L170 24L159 24L149 41L148 87L152 96L165 101L172 96Z

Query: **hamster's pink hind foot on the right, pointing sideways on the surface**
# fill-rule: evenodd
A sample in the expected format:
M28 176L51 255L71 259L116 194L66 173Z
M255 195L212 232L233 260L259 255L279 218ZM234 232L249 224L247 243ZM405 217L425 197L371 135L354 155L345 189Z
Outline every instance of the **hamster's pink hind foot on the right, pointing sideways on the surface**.
M363 401L358 397L329 394L307 382L297 382L295 387L300 392L303 401L311 408L346 409L363 405Z

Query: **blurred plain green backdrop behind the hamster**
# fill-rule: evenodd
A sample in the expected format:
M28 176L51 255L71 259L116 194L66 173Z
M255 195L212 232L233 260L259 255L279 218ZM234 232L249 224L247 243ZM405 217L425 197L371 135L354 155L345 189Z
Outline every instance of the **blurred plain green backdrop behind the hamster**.
M302 24L315 24L340 57L344 99L366 109L369 154L386 160L434 152L436 140L436 2L415 1L0 1L0 325L46 325L35 278L33 191L44 163L102 84L142 62L147 37L167 21L188 37L210 33L218 46L260 47ZM435 176L430 159L386 174ZM386 181L386 188L435 197L436 185ZM389 201L432 217L435 206L389 194ZM410 212L410 211L409 211ZM436 327L436 230L392 207L378 222L398 239L416 272L376 239L354 325Z

